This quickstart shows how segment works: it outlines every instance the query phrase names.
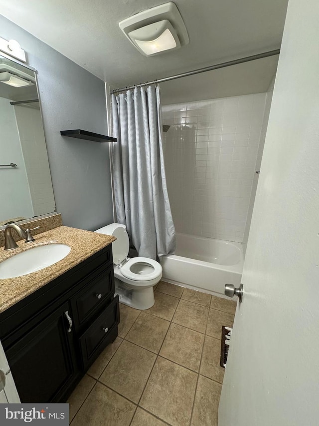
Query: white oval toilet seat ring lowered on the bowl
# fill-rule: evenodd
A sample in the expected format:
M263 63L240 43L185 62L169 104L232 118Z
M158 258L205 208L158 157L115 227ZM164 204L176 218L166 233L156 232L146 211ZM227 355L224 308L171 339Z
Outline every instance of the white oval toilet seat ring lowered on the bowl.
M136 267L136 269L138 270L139 266L141 266L142 270L143 270L143 267L153 268L153 271L149 273L146 272L144 274L133 272L135 269L134 267ZM133 257L132 259L129 259L121 267L121 273L124 277L129 278L130 280L151 281L151 280L154 280L155 278L158 278L161 275L162 267L159 262L153 259L149 259L148 257Z

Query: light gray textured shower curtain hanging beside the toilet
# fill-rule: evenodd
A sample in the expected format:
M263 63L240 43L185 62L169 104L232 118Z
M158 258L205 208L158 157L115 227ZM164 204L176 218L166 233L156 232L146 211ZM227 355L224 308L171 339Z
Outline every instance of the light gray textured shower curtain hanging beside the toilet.
M117 221L140 257L175 250L162 152L160 87L112 94L112 165Z

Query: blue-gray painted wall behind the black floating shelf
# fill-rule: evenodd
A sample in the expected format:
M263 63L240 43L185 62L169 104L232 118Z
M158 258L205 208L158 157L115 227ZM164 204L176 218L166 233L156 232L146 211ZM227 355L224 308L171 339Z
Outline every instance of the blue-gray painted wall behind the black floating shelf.
M17 40L27 63L37 70L53 190L63 224L94 230L113 222L108 144L60 136L60 130L77 128L107 134L104 82L1 15L0 37Z

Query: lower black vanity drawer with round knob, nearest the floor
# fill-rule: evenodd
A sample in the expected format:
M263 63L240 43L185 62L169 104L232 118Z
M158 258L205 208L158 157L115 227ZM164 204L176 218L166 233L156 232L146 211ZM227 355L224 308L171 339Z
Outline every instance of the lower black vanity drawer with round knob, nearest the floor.
M119 296L116 296L79 339L84 369L92 364L110 343L111 337L114 340L117 336L119 322Z

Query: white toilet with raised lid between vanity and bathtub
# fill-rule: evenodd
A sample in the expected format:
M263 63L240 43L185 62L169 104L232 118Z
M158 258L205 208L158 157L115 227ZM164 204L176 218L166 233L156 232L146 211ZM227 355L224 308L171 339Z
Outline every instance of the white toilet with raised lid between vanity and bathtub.
M125 225L111 223L95 232L113 235L112 243L115 293L121 303L136 309L149 309L154 303L153 287L160 281L162 268L147 257L128 258L129 237Z

